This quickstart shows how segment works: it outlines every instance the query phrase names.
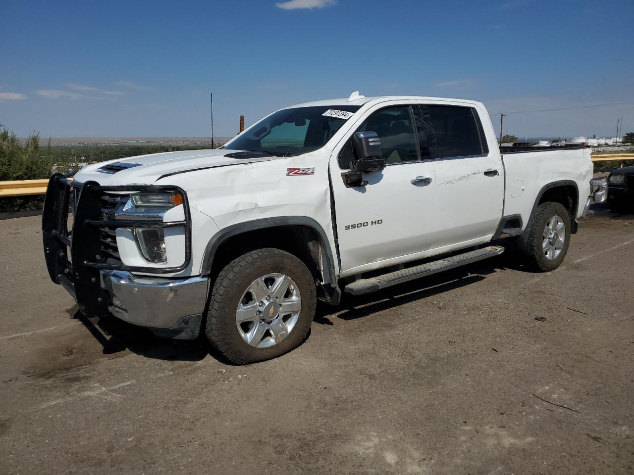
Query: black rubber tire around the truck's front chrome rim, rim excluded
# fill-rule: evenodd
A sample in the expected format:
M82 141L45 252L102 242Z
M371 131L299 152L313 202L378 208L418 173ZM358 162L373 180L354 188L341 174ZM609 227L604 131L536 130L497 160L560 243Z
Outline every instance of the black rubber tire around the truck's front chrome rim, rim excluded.
M269 348L250 346L236 326L236 310L249 285L266 274L280 272L295 281L301 294L299 317L288 336ZM316 285L306 265L294 255L274 248L250 251L221 270L211 291L205 334L217 350L236 364L276 358L296 348L313 322Z

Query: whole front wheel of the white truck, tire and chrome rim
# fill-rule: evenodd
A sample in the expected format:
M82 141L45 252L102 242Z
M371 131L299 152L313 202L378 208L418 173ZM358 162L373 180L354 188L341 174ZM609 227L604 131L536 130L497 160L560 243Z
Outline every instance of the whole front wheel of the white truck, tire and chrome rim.
M315 306L314 279L299 258L273 248L250 251L218 275L205 334L234 363L268 360L303 341Z

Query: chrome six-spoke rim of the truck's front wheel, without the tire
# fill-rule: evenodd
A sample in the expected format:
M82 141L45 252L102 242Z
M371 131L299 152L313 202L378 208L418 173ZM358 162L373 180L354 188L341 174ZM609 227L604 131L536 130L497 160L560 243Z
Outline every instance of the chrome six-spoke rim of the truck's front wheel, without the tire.
M302 298L293 279L279 273L258 277L238 304L238 333L256 348L278 345L293 331L301 309Z

